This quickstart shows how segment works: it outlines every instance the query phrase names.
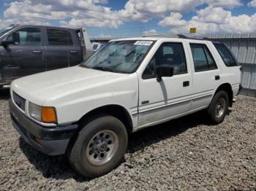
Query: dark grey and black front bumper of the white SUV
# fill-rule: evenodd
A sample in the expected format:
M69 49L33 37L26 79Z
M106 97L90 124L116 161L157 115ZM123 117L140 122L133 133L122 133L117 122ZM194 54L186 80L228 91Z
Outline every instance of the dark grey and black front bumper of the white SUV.
M47 155L63 155L78 125L45 128L26 117L9 101L12 124L32 147Z

